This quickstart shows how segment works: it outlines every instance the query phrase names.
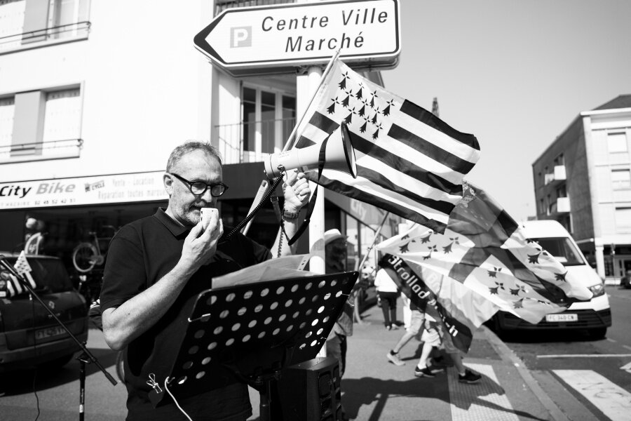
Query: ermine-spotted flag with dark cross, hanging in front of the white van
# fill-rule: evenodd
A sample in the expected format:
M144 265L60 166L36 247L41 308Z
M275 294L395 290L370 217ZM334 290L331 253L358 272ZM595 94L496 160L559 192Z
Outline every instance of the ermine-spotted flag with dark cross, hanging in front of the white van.
M448 276L530 323L592 298L482 189L464 187L443 234L415 225L376 248Z

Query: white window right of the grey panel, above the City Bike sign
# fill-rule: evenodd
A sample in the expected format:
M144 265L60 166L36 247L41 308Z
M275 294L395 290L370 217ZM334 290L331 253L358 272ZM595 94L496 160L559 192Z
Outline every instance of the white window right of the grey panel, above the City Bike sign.
M79 88L47 93L42 142L78 139L80 128Z

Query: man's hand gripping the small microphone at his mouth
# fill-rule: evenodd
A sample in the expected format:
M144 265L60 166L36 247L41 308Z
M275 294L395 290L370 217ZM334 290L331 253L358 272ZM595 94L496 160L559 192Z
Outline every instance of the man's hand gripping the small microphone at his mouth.
M203 228L203 221L198 222L189 235L184 239L182 246L182 257L180 262L194 272L202 265L208 263L212 256L217 252L217 243L222 234L224 234L224 224L218 219L214 226ZM212 224L212 222L211 222Z

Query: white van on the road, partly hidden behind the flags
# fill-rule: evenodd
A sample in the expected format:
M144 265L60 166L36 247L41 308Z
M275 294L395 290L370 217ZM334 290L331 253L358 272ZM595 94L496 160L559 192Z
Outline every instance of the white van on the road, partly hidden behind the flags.
M611 326L611 309L604 282L588 265L569 232L555 220L526 221L520 225L528 239L539 243L566 267L566 279L583 283L594 296L590 301L575 302L562 313L548 314L537 324L507 312L498 312L491 319L491 326L498 334L524 329L586 329L592 338L603 338L607 328Z

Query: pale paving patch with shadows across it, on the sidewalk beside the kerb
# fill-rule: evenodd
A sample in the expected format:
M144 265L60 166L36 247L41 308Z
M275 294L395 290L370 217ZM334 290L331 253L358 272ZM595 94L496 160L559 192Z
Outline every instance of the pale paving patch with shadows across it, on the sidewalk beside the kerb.
M482 381L477 385L465 385L458 381L458 373L449 368L449 401L452 421L519 421L508 396L500 392L501 386L493 367L488 364L468 363L480 373Z

